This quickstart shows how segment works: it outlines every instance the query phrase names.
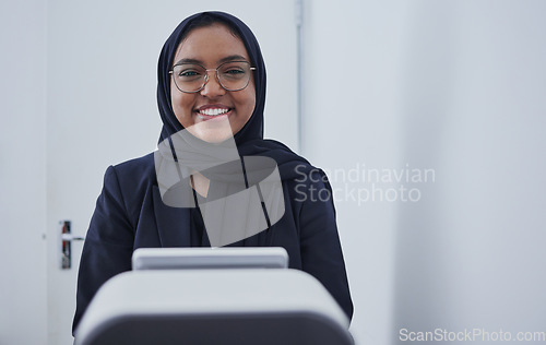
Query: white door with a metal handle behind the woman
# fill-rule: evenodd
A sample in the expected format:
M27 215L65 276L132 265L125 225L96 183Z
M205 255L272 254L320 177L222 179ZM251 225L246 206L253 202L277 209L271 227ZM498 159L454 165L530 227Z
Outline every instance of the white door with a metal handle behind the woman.
M268 8L268 11L263 11ZM48 2L47 274L48 344L72 344L83 241L61 269L61 221L85 236L108 165L155 150L161 130L155 88L159 50L178 23L221 9L257 35L268 66L265 134L297 143L294 1ZM282 39L278 39L282 37Z

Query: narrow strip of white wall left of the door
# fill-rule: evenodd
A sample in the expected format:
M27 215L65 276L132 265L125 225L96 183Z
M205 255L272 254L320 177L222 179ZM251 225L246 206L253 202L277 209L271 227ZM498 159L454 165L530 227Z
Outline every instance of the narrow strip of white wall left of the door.
M46 2L0 2L0 344L46 338Z

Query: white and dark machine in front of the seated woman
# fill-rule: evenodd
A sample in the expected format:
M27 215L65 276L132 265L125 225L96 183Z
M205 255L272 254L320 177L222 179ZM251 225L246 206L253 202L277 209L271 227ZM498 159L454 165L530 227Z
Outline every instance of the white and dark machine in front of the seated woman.
M348 319L282 248L138 249L98 290L75 345L352 345Z

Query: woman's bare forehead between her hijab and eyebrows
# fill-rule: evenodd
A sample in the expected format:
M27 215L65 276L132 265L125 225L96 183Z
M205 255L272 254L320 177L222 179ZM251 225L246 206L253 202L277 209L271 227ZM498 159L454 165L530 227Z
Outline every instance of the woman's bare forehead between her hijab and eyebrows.
M177 48L174 62L180 59L214 63L229 56L241 56L250 60L242 40L224 24L192 29Z

